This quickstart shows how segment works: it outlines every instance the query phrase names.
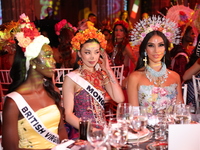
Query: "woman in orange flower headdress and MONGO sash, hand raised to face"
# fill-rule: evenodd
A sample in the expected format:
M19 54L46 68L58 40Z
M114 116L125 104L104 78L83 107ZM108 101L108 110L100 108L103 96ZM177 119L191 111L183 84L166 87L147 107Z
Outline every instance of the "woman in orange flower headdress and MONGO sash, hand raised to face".
M95 28L78 32L72 39L72 47L77 51L77 65L63 83L65 120L78 138L80 118L103 123L104 97L106 92L117 103L124 101L118 81L109 66L105 36Z

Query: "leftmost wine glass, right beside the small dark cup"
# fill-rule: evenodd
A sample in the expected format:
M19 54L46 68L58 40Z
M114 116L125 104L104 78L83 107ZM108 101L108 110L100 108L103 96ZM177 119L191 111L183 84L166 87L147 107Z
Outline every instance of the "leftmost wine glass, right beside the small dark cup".
M105 124L89 121L87 128L87 140L95 148L100 150L102 144L108 139L108 129Z

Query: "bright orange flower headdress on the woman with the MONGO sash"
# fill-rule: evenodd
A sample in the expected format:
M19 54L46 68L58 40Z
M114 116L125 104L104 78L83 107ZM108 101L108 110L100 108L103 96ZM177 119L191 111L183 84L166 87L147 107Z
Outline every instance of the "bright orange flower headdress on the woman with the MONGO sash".
M83 31L79 31L72 38L72 49L75 51L79 51L81 49L81 44L84 44L89 39L96 39L100 43L101 50L106 49L107 41L105 40L105 36L96 28L89 28Z

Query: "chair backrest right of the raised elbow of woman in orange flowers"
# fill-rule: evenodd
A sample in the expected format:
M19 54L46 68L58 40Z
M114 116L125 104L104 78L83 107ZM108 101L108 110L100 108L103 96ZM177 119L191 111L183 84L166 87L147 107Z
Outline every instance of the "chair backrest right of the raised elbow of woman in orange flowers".
M119 81L119 85L122 86L124 65L121 65L121 66L111 66L111 69L113 70L113 72L115 74L115 77Z

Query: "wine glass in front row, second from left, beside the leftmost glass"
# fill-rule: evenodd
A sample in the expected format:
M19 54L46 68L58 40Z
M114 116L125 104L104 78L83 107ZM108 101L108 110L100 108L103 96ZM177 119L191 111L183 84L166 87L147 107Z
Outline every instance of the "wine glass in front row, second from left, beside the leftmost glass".
M111 146L119 150L126 144L128 128L123 122L109 123L109 143Z

